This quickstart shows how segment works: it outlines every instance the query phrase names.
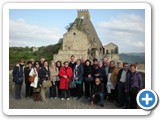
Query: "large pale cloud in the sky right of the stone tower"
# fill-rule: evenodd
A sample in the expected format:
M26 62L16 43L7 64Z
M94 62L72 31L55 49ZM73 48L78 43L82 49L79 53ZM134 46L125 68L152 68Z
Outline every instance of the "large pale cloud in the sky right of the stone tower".
M113 42L119 46L120 52L145 51L145 21L142 16L121 14L100 21L96 26L103 44Z

